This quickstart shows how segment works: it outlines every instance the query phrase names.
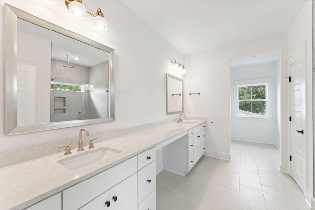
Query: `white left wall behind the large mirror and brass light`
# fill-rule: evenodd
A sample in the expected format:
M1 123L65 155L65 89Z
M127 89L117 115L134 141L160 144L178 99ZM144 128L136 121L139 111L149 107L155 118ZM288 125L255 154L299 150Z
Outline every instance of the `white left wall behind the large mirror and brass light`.
M185 57L138 16L133 14L119 0L89 0L84 4L95 13L98 8L108 21L108 31L98 32L93 28L93 19L86 21L72 19L64 1L49 6L41 0L0 0L0 29L4 34L4 2L18 7L41 19L74 31L116 51L115 113L116 121L87 125L90 134L126 128L166 119L166 73L176 75L170 60L184 63ZM0 83L4 84L4 40L0 36ZM185 64L185 63L184 63ZM186 66L186 65L185 65ZM0 152L16 150L34 145L76 138L81 127L4 136L4 85L0 89ZM47 105L49 105L47 101Z

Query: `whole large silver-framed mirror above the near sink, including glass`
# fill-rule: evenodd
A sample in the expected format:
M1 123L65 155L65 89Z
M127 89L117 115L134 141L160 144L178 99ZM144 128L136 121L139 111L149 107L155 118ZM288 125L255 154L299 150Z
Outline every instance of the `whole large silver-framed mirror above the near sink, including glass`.
M115 120L114 49L5 12L5 135Z

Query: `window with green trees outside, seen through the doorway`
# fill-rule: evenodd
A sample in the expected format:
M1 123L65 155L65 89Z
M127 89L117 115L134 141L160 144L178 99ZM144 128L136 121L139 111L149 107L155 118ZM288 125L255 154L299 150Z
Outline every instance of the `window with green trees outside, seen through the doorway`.
M238 116L267 117L267 84L239 85Z

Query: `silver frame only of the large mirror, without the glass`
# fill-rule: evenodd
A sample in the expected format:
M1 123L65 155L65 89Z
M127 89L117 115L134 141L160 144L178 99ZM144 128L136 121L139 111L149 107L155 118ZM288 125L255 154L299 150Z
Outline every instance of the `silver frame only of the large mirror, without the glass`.
M38 26L61 33L78 41L84 42L101 50L107 51L109 60L109 117L90 120L73 120L64 122L52 122L43 124L17 126L17 19L34 23ZM82 126L96 123L115 121L115 50L74 33L57 25L44 21L20 9L5 4L5 44L4 44L4 67L5 67L5 103L4 120L5 135L30 133L43 130L52 130L66 127Z

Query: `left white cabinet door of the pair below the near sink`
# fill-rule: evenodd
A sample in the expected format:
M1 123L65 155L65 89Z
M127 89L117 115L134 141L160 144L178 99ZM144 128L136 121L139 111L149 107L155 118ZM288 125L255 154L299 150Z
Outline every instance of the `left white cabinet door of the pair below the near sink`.
M110 208L109 190L87 203L79 210L109 210ZM108 207L107 207L108 206Z

